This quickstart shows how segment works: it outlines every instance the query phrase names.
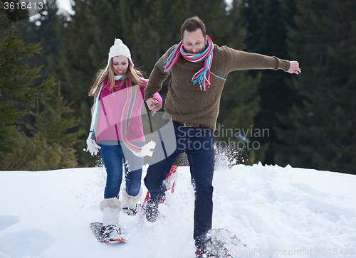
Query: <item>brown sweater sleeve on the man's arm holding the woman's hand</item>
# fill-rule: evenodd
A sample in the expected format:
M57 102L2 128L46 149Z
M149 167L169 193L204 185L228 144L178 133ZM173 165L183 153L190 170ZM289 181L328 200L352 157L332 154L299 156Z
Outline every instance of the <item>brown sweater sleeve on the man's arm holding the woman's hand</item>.
M169 72L164 72L164 62L168 60L169 55L173 52L177 45L173 45L155 64L150 78L148 79L147 87L145 88L145 100L150 99L156 92L162 89L162 83L167 80Z

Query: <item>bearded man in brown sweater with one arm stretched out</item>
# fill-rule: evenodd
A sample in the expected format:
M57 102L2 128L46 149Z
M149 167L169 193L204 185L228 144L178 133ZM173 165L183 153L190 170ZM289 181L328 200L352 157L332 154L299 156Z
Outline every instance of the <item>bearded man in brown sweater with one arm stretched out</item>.
M179 154L187 153L195 190L194 240L197 257L202 257L209 241L206 234L211 230L214 129L226 77L234 70L282 69L296 74L301 71L296 61L214 45L197 16L183 23L181 33L182 41L158 60L145 89L145 100L155 109L157 103L152 96L161 90L162 82L171 73L163 118L172 119L175 135L164 136L167 130L160 130L163 137L160 136L161 143L156 146L145 177L151 194L146 216L151 222L156 220L158 204L164 198L164 178Z

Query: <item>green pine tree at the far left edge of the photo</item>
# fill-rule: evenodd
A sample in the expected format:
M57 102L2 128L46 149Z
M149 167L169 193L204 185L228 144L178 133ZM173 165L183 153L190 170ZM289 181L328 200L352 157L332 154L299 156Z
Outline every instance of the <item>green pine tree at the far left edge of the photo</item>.
M4 4L0 3L0 8ZM16 25L10 25L0 14L0 156L14 152L16 141L3 144L12 124L19 124L23 116L36 103L36 97L45 97L51 92L54 79L33 85L41 67L30 68L25 60L41 49L39 43L25 44L15 36Z

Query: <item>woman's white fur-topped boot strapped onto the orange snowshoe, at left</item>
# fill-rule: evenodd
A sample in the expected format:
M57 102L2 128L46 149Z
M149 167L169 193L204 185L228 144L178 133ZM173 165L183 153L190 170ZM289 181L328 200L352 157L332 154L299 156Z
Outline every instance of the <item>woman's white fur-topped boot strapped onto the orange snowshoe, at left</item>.
M120 237L120 211L122 203L117 198L104 199L100 202L103 211L103 235L110 239Z

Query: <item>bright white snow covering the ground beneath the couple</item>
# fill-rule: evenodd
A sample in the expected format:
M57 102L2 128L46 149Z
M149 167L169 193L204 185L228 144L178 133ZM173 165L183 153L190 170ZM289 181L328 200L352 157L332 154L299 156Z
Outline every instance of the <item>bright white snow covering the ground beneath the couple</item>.
M144 168L144 176L147 165ZM147 227L122 214L128 242L102 244L104 168L0 171L0 258L194 257L194 191L188 166L175 174L165 219ZM286 166L219 166L213 227L242 244L236 257L354 257L356 176Z

